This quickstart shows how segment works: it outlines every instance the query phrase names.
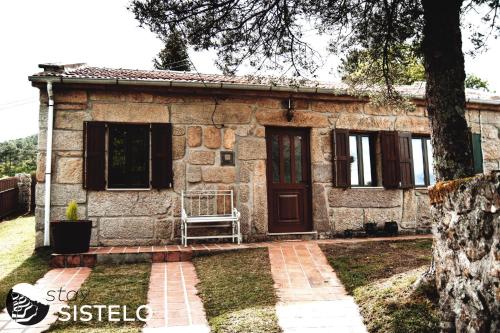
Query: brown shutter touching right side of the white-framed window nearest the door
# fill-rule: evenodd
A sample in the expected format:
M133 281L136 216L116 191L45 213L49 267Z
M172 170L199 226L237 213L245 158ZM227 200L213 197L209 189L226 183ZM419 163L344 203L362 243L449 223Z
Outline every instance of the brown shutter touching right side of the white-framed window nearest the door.
M398 188L399 170L399 136L398 132L381 132L382 147L382 185L385 188Z

